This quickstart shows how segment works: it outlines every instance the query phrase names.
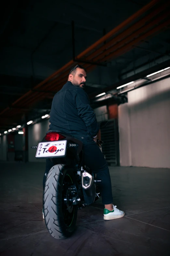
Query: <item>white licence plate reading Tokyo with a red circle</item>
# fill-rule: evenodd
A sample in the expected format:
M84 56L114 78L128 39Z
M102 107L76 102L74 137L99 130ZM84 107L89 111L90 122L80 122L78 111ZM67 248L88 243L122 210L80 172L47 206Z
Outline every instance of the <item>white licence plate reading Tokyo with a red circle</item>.
M40 142L36 158L51 158L65 156L67 141Z

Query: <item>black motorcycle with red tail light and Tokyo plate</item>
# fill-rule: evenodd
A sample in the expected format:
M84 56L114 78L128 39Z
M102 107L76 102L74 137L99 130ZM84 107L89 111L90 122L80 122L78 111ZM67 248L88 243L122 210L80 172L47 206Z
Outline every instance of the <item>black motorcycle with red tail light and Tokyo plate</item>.
M100 123L105 128L108 121ZM97 139L102 151L103 141ZM78 209L100 197L95 174L83 162L82 142L59 130L49 130L37 148L36 158L49 158L50 169L43 193L43 212L49 233L64 239L76 229Z

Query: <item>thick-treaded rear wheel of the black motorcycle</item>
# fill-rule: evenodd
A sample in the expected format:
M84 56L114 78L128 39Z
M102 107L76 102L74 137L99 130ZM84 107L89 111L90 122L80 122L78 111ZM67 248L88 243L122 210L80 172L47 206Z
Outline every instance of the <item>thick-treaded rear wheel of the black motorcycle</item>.
M54 238L64 239L76 228L78 206L71 202L71 186L76 185L73 169L54 165L46 179L43 211L46 227Z

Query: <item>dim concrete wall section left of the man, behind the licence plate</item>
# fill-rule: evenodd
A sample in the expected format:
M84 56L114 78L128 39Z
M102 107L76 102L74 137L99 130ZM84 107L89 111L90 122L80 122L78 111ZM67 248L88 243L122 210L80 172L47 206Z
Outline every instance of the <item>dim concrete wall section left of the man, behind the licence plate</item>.
M32 149L31 146L38 145L39 142L46 135L49 129L49 119L44 120L41 123L28 126L28 161L29 162L45 162L44 159L36 159L36 149Z

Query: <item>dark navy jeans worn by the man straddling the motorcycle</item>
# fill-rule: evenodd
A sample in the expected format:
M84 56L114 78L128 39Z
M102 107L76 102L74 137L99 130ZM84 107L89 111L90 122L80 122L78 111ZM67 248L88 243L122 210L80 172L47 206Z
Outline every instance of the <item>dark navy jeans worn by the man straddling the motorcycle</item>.
M89 136L73 135L83 142L84 162L94 173L97 179L102 179L102 183L98 184L103 204L113 203L112 186L107 162L100 148ZM47 159L46 171L43 178L43 189L45 187L46 176L50 171L53 163Z

